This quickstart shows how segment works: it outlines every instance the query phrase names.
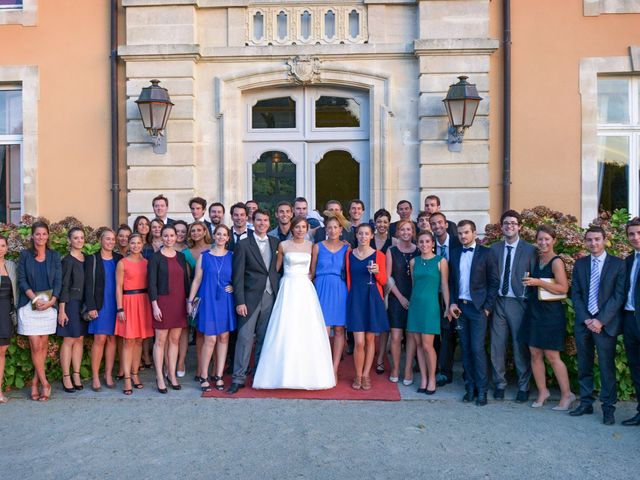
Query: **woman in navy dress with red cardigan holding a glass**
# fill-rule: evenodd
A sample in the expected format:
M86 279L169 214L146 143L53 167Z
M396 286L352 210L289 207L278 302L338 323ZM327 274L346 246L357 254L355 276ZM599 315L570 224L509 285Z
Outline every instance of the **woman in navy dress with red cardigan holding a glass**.
M347 254L347 329L353 332L355 390L370 390L369 373L376 354L376 334L389 331L382 287L387 283L384 253L371 248L373 229L368 223L356 227L358 247Z

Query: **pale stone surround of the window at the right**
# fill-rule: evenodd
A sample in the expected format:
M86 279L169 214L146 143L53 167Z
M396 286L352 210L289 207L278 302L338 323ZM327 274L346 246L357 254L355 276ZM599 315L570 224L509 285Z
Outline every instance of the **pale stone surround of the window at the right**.
M633 50L632 50L633 51ZM637 66L636 66L637 68ZM590 57L580 60L582 109L581 223L598 216L598 75L631 74L632 57Z

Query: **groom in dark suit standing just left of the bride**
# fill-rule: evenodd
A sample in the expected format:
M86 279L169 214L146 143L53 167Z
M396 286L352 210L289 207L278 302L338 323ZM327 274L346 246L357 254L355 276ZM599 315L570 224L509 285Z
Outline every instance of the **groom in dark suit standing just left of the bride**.
M233 361L232 384L227 390L230 394L244 387L254 335L255 364L260 360L269 316L278 293L276 252L280 241L267 235L269 212L256 210L253 226L254 234L240 240L233 251L233 297L238 314L238 339Z

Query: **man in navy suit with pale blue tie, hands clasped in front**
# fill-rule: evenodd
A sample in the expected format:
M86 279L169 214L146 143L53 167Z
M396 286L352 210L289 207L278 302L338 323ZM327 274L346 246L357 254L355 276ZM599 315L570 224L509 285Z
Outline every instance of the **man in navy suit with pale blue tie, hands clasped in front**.
M580 405L569 412L573 417L593 413L594 349L600 365L602 420L613 425L617 398L616 342L621 331L620 307L624 303L626 268L624 261L604 250L606 234L591 226L585 235L591 255L576 261L571 282L571 300L576 312L574 335L578 349Z

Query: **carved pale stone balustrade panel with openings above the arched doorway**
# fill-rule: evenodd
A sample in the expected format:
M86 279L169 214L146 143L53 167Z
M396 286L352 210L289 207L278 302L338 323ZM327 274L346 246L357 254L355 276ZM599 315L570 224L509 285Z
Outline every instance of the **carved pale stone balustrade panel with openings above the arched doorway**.
M357 44L369 38L362 5L265 5L248 8L246 15L246 45Z

